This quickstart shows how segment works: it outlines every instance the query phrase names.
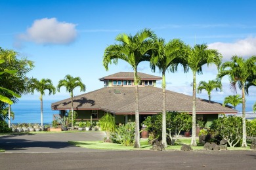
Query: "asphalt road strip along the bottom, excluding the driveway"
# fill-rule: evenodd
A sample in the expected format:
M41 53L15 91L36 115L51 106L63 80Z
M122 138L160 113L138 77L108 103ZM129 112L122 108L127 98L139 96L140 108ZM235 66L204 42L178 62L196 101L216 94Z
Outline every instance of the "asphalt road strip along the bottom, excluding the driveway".
M253 151L108 151L0 154L5 169L255 169Z

